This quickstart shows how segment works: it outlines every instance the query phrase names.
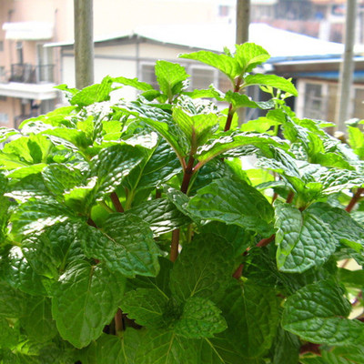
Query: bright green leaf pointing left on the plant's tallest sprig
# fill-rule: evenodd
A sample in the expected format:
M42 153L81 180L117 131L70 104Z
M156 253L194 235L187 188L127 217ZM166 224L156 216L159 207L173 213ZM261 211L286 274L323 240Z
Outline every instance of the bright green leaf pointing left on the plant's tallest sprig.
M231 80L234 80L234 78L238 77L243 71L237 60L227 55L217 55L213 52L198 51L185 55L179 55L179 57L194 59L208 66L213 66L220 70L223 74L227 75L227 77Z

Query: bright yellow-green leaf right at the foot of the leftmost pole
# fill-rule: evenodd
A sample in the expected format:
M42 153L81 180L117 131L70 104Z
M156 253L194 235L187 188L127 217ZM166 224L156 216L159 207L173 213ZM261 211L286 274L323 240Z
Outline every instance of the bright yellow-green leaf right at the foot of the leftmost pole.
M101 84L86 86L81 91L75 93L70 99L70 103L71 105L88 106L94 103L107 101L110 99L110 92L113 90L112 84L113 78L106 76L101 81Z

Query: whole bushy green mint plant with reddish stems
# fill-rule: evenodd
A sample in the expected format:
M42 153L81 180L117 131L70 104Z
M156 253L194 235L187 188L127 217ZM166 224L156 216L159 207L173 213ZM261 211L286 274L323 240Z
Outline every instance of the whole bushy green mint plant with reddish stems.
M69 106L0 129L0 362L364 362L361 130L299 119L258 45L181 57L231 91L158 61L158 89L58 86Z

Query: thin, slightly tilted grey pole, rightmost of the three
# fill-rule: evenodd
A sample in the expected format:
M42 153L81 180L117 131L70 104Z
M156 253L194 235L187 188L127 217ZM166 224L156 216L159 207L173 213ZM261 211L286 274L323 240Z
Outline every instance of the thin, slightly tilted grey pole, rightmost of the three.
M354 71L354 42L357 0L347 0L345 19L345 50L340 65L339 87L336 110L336 124L339 131L345 131L345 121L349 119L349 106Z

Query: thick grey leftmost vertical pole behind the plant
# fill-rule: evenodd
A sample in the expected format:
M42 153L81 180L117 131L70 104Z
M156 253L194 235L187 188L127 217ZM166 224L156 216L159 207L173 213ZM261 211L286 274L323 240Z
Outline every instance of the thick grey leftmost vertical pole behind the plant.
M74 0L76 88L94 83L93 0Z

